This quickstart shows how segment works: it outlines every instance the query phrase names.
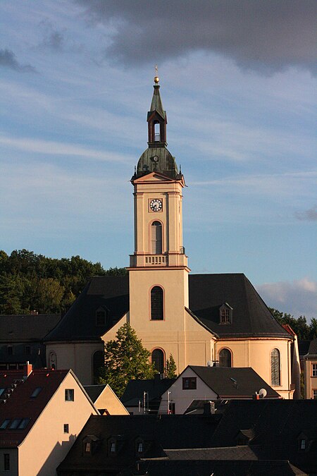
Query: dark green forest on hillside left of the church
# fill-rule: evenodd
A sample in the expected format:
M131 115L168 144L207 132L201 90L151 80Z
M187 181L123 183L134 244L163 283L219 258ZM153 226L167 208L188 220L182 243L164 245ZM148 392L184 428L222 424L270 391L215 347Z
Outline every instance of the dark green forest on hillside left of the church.
M123 275L80 256L48 258L28 250L0 250L0 314L65 313L92 276Z

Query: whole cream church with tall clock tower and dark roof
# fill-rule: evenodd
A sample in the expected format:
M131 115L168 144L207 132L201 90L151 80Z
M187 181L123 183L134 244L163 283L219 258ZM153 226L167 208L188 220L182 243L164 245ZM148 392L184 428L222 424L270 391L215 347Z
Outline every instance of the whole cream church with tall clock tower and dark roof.
M292 369L294 336L247 277L189 274L182 241L185 178L167 149L157 76L147 124L148 147L131 178L135 250L128 275L87 283L46 336L47 364L72 368L82 384L92 384L104 343L129 322L159 372L170 354L178 373L187 365L252 367L280 396L293 398L299 377Z

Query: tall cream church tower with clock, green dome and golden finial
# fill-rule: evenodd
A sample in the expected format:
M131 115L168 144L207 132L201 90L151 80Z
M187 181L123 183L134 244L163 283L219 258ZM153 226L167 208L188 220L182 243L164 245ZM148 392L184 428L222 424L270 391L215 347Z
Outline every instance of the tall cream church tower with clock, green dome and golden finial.
M163 372L173 354L185 364L187 256L182 243L184 177L166 148L166 111L159 78L147 114L148 147L139 158L134 187L135 252L130 255L130 324Z

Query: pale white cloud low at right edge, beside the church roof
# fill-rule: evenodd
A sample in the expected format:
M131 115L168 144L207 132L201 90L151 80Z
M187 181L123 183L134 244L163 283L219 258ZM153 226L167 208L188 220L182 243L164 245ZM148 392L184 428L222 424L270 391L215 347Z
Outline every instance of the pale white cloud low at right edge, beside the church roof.
M294 317L317 316L317 281L305 277L295 281L264 283L256 289L268 306L281 312Z

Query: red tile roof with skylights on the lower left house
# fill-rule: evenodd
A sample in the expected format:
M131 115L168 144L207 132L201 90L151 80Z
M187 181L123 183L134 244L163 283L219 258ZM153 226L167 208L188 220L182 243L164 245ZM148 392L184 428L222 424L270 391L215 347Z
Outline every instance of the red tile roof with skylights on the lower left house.
M49 400L54 395L58 387L65 379L69 370L33 370L30 375L23 380L23 370L1 370L0 389L5 391L0 396L0 426L4 420L30 418L25 429L0 429L0 446L18 446L30 432L30 429L37 421L37 418L44 410ZM20 382L16 382L20 381ZM14 384L16 384L15 388ZM35 389L41 387L42 390L35 398L31 395ZM8 394L9 397L4 398ZM5 403L2 401L6 399Z

